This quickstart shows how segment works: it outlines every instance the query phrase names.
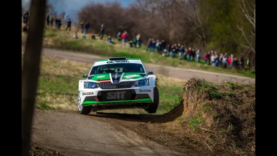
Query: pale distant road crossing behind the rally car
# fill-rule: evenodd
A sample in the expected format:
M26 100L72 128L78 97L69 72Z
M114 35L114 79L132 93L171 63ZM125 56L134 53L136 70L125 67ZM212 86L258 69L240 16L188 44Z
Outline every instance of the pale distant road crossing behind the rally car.
M23 47L22 47L23 49ZM87 62L93 64L99 59L107 59L104 57L99 57L95 55L80 54L73 52L64 52L53 49L43 49L43 53L48 56L55 56L61 59L68 59L78 62ZM219 82L219 81L231 81L231 82L241 82L245 84L254 83L255 79L249 77L236 76L230 74L208 72L194 69L184 69L176 67L166 67L155 64L146 64L144 63L147 70L154 71L155 74L163 74L165 76L176 77L178 79L189 80L193 76L198 76L210 82Z

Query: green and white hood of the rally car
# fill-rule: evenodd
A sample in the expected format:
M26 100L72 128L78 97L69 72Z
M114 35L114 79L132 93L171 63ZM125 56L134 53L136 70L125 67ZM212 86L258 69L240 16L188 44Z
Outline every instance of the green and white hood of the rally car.
M136 81L146 77L145 73L142 72L115 72L115 73L101 73L95 75L89 75L87 80L97 81L97 82L126 82L126 81Z

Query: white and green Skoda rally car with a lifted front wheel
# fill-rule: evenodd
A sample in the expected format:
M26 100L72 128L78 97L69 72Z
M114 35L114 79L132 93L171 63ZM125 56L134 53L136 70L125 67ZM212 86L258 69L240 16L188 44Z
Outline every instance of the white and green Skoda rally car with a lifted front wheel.
M79 81L78 110L144 108L155 113L159 105L156 75L146 72L140 59L112 57L96 61L86 80Z

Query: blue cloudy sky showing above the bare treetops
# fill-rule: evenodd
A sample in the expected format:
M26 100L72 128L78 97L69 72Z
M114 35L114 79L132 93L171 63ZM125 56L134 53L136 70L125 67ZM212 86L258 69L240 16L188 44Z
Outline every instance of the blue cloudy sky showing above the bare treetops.
M71 18L76 19L77 12L86 4L91 2L111 2L114 0L48 0L51 3L55 10L60 12L66 12L66 16L69 15ZM30 0L22 0L22 4L28 3ZM122 6L129 6L134 0L118 0Z

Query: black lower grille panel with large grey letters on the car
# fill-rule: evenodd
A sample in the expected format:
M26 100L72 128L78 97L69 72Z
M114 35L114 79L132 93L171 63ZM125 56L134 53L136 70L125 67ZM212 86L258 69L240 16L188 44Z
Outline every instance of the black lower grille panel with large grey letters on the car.
M135 90L111 90L98 92L99 101L121 101L134 100L136 96Z

